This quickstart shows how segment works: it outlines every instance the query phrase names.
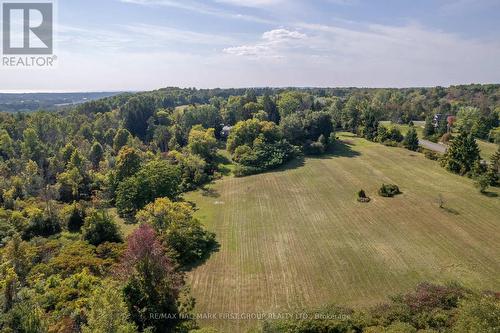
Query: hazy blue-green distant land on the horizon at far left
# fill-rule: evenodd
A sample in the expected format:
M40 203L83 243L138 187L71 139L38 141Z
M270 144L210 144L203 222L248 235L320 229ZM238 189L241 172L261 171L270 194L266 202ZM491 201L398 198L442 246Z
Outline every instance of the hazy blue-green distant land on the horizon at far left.
M33 112L37 110L55 110L60 107L80 104L118 94L120 94L120 92L0 93L0 111Z

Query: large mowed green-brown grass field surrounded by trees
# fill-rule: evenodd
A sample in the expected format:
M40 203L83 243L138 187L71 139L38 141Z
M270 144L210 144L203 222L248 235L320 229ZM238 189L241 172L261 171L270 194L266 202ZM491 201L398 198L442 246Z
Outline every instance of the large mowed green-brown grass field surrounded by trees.
M220 243L189 274L198 313L368 306L422 281L500 290L498 189L485 196L422 154L341 139L334 155L185 196ZM383 182L403 194L379 197ZM361 188L370 203L356 201ZM258 325L201 323L224 332Z

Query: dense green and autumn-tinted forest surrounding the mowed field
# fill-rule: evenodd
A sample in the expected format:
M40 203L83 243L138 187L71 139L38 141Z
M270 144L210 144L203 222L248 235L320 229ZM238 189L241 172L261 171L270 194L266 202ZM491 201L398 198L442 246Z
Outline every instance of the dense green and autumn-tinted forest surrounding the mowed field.
M436 115L457 121L436 121ZM328 153L336 131L419 149L413 126L403 135L382 120L425 120L428 139L451 141L439 157L443 167L473 177L483 191L498 182L500 152L482 161L475 140L500 143L499 117L500 85L165 88L59 111L0 113L2 332L196 329L196 321L179 315L195 304L184 276L218 243L182 193L229 172L246 176ZM134 226L130 235L123 224ZM417 290L372 313L373 325L330 331L393 324L439 331L451 329L453 320L480 325L491 308L498 316L498 294L432 288L437 305L420 296L435 292ZM309 324L279 325L302 332Z

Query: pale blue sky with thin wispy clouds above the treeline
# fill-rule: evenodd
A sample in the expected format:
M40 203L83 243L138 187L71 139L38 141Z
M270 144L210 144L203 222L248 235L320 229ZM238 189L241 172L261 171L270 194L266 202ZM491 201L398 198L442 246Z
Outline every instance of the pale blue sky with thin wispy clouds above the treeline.
M499 0L55 1L56 67L0 91L500 83Z

